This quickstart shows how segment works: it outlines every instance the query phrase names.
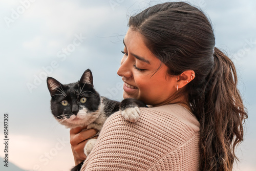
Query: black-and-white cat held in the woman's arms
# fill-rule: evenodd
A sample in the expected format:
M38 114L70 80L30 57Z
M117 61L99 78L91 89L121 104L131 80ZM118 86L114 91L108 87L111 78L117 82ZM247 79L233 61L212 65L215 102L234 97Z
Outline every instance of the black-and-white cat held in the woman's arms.
M120 110L125 120L136 122L140 118L139 108L147 108L142 101L127 98L121 102L102 97L94 89L90 69L82 74L75 83L61 84L52 77L47 78L47 87L51 94L51 111L55 119L67 128L87 127L100 132L105 120ZM88 156L97 139L91 138L84 146ZM80 170L83 162L71 171Z

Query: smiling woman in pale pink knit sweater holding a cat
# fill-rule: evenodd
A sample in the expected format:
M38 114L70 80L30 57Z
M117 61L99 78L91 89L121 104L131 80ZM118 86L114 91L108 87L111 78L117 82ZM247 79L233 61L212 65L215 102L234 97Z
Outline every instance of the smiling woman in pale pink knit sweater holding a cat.
M232 170L247 118L232 61L215 47L210 22L187 3L132 16L118 75L124 98L140 99L138 122L115 113L82 170ZM97 131L70 131L75 161Z

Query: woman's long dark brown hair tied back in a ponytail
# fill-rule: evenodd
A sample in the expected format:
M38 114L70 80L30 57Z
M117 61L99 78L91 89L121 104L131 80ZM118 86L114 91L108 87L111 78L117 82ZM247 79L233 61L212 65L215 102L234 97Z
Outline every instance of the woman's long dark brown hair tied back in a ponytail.
M130 17L129 27L143 35L148 49L169 68L168 74L195 71L186 91L201 125L200 170L231 171L248 115L237 89L236 69L215 47L207 17L187 3L164 3Z

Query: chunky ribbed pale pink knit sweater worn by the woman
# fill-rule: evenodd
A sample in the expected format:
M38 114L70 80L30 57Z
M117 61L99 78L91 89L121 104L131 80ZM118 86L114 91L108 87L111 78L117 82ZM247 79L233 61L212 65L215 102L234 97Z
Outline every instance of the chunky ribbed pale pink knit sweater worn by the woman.
M108 118L81 170L198 170L196 117L178 104L140 111L135 123Z

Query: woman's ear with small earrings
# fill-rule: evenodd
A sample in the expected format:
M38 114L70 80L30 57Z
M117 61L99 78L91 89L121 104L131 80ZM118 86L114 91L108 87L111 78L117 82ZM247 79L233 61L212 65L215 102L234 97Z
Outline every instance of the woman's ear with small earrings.
M188 82L190 82L191 80L193 80L196 77L195 72L193 70L187 70L184 71L182 74L180 74L177 78L177 85L178 88L183 88L184 86L186 86L186 84Z

